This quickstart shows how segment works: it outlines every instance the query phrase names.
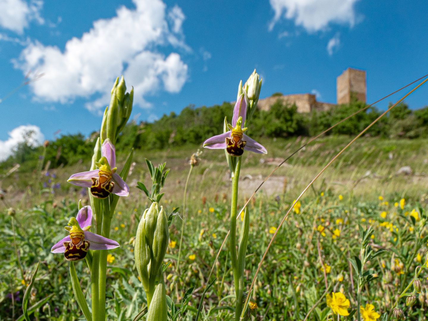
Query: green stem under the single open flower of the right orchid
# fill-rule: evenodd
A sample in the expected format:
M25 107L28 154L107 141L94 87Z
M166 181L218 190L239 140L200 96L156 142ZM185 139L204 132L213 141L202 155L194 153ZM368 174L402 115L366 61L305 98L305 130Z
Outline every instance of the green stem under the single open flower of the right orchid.
M241 171L241 156L238 157L236 162L235 174L232 178L232 203L230 208L230 259L233 268L233 281L235 283L236 292L236 306L235 306L235 321L239 321L242 311L242 291L240 291L241 273L238 266L238 256L236 253L236 215L238 212L238 183L239 173ZM241 292L241 293L240 293Z

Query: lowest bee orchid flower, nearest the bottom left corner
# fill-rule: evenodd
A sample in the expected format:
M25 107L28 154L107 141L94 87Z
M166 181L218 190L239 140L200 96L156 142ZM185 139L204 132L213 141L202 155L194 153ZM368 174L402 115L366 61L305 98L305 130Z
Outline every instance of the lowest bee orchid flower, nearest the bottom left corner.
M111 250L119 247L119 243L104 236L89 232L92 224L91 206L84 206L77 217L70 218L64 227L69 235L53 245L52 253L64 253L68 261L84 259L88 250Z

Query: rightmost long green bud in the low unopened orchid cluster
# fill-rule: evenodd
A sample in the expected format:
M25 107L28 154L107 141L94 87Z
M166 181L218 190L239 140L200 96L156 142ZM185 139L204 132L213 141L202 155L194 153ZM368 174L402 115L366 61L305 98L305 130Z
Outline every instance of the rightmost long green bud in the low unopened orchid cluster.
M156 223L155 236L153 238L153 256L151 273L158 274L158 270L162 267L163 258L165 257L166 248L168 247L169 233L168 233L168 219L166 218L163 206L160 206L158 220Z

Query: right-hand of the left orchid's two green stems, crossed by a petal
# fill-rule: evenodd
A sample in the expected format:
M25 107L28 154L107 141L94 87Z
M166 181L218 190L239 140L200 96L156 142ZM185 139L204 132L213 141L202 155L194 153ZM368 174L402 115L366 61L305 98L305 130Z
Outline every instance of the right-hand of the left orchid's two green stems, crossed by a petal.
M110 201L109 197L104 198L102 201L103 208L103 224L102 236L107 239L110 237ZM105 320L106 314L106 276L107 276L107 255L108 250L100 250L100 263L99 263L99 276L98 276L98 307L100 313L100 320Z

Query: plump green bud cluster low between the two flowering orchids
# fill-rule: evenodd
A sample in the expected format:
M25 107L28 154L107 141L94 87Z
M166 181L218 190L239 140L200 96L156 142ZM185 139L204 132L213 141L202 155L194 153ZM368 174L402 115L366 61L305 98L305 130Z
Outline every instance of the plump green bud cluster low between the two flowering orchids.
M149 315L151 309L154 309L151 305L152 302L155 306L159 306L159 309L164 308L161 301L164 300L166 302L166 297L162 297L162 293L163 296L166 295L162 277L162 264L168 241L168 219L165 211L162 206L159 209L158 203L153 202L150 208L144 211L143 217L138 224L134 249L135 265L146 291ZM163 315L160 310L158 313ZM150 320L150 318L147 318L147 320ZM158 318L157 320L166 320L166 315L164 319Z

